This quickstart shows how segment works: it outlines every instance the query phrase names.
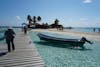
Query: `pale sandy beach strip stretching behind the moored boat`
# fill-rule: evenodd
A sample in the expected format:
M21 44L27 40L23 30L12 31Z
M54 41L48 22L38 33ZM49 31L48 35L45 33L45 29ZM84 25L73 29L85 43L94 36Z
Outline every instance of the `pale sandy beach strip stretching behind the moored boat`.
M86 37L90 40L100 41L100 33L86 33L86 32L77 32L72 30L57 30L57 29L33 29L32 31L35 32L51 32L51 33L57 33L57 34L64 34L64 35L70 35L70 36L78 36L78 37Z

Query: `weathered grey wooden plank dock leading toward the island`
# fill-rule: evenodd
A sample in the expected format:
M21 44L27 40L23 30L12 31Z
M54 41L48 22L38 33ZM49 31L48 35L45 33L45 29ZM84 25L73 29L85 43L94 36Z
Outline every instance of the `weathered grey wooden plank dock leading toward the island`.
M15 37L15 51L0 57L0 67L46 67L35 45L28 35L19 32ZM0 45L0 52L6 52L7 45Z

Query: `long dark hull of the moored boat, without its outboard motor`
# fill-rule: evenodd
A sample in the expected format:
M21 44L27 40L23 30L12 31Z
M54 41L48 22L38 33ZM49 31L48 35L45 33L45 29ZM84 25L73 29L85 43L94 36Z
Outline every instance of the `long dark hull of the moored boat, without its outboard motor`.
M40 38L40 40L56 42L56 43L64 43L64 44L69 44L71 46L83 47L83 45L85 43L84 41L79 41L78 39L55 38L55 37L51 37L51 36L44 35L41 33L38 34L38 37Z

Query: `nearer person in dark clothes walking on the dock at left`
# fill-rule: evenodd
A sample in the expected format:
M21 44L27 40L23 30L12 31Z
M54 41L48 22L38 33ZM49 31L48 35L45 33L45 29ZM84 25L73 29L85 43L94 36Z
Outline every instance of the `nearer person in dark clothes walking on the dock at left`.
M5 31L4 35L8 46L8 52L11 52L11 45L12 45L12 50L15 50L14 46L15 32L13 31L13 29L9 27L8 30Z

